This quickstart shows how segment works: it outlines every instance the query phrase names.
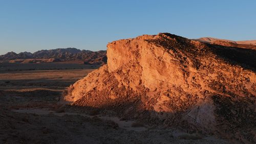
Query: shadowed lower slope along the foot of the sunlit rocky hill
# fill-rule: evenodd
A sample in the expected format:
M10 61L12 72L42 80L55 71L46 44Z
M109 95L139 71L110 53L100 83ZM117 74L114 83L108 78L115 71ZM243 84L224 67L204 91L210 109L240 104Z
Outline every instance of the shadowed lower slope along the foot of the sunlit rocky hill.
M212 99L217 107L215 114L217 114L216 121L218 125L216 126L204 126L197 123L196 120L194 121L194 119L184 118L193 106L175 112L156 112L153 109L144 109L141 106L140 99L127 100L125 103L113 101L98 107L90 106L90 104L84 104L84 106L68 105L67 108L89 115L106 114L106 111L111 111L108 114L118 116L124 121L135 120L146 125L162 125L166 128L177 128L188 133L216 135L227 138L230 142L253 143L255 140L253 128L256 127L254 123L256 113L253 112L254 108L247 108L244 111L248 105L253 105L253 102L247 98L228 98L221 95L212 95ZM233 101L233 99L236 99L236 101ZM233 110L236 110L236 112L233 112ZM207 117L205 120L207 120Z

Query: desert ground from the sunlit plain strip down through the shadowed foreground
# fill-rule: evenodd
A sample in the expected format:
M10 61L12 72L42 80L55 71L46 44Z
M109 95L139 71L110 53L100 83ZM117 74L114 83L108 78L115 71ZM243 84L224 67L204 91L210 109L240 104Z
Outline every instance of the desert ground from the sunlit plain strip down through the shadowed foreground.
M58 105L62 90L92 70L0 74L0 143L228 143Z

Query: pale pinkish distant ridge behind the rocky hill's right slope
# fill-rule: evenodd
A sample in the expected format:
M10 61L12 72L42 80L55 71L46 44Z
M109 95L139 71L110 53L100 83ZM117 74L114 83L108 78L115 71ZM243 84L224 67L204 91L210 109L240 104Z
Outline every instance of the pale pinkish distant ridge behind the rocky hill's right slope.
M210 43L210 44L218 44L218 45L231 46L231 47L242 47L245 49L256 50L256 40L233 41L233 40L218 39L218 38L212 38L212 37L202 37L202 38L193 39L193 40Z

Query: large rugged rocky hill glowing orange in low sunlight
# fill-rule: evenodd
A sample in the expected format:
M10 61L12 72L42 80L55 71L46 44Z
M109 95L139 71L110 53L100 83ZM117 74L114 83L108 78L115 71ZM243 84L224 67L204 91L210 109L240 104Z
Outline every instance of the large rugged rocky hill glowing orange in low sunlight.
M207 133L255 128L255 51L168 33L107 47L108 65L70 86L63 101Z

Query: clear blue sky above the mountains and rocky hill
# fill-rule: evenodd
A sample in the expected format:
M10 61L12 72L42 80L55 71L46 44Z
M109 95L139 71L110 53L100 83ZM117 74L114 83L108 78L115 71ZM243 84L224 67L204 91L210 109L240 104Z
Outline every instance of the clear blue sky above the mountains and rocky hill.
M256 1L0 0L0 54L76 47L168 32L256 39Z

